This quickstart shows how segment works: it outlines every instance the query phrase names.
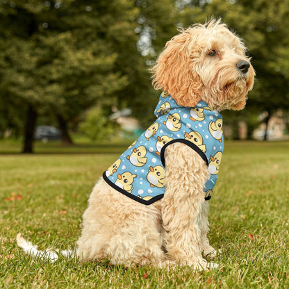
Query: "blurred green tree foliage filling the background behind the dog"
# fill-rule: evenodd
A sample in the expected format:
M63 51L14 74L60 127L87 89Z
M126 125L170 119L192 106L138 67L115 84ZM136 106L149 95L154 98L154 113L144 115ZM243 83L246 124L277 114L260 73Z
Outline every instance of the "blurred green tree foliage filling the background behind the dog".
M146 125L158 99L150 65L176 28L211 16L249 47L250 112L289 110L288 0L0 0L0 131L20 134L31 112L33 125L53 115L65 130L92 106L104 117L129 106Z

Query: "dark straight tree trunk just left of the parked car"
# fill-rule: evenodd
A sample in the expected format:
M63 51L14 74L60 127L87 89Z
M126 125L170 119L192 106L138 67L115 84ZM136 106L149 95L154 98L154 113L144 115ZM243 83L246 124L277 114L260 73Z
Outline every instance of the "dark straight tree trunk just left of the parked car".
M28 105L26 123L24 126L24 144L22 153L32 154L33 153L33 135L36 126L37 112L31 104Z

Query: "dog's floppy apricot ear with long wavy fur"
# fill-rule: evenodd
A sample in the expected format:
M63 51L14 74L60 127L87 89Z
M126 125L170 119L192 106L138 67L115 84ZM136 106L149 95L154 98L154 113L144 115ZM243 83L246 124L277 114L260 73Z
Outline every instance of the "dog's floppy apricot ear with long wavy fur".
M179 106L196 106L201 100L203 83L195 71L190 42L186 31L174 36L151 69L154 88L171 94Z

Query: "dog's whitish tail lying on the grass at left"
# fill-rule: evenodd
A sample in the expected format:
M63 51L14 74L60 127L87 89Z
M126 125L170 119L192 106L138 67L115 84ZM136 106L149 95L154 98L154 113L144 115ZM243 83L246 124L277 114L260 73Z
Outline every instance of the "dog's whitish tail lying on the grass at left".
M22 248L26 254L34 256L35 258L48 259L51 263L55 262L60 254L68 258L74 257L74 251L72 250L59 251L58 249L46 249L44 251L40 251L38 250L38 246L26 241L22 237L21 233L17 234L16 242L17 245Z

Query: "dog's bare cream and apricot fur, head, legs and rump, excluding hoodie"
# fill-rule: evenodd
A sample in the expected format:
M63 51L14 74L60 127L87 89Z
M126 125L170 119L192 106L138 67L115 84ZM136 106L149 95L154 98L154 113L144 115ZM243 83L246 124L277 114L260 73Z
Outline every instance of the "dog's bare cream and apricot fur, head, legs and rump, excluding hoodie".
M179 106L205 101L218 111L240 110L255 75L245 51L242 40L220 20L195 24L167 42L152 69L154 87ZM215 267L202 256L216 254L207 238L208 175L199 154L176 142L165 150L164 197L153 204L140 204L101 178L83 214L76 254L83 261L108 257L113 264Z

